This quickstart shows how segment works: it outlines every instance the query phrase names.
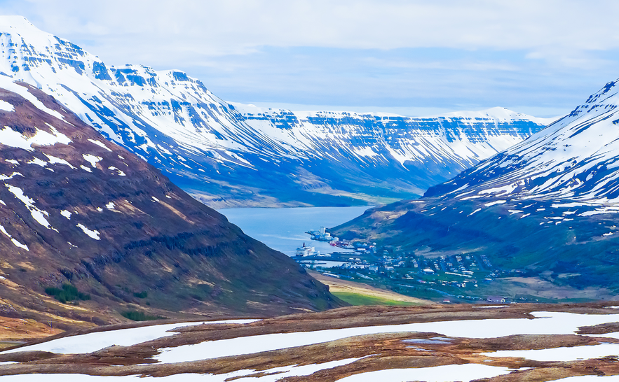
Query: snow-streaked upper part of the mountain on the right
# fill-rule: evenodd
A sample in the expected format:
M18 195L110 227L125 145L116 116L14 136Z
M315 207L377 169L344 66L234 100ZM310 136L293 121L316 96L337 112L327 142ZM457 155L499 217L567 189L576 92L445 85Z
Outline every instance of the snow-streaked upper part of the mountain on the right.
M618 90L618 81L606 84L547 129L437 186L428 195L451 191L463 199L568 198L588 204L617 204Z

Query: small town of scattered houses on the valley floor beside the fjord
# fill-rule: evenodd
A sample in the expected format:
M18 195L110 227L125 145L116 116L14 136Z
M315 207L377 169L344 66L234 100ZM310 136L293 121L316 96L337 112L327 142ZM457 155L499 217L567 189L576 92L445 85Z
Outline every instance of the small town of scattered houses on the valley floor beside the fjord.
M497 278L522 276L518 269L498 269L478 253L422 255L420 252L400 252L376 243L339 240L325 232L306 232L312 240L329 241L345 251L320 253L312 246L297 248L295 259L301 266L315 269L335 278L346 278L395 292L432 299L436 302L526 302L533 297L503 297L492 292Z

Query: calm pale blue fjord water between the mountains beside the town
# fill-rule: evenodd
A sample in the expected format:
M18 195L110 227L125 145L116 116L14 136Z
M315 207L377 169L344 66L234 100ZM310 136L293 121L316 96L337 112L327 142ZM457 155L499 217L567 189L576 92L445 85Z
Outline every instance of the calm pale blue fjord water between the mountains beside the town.
M315 247L321 254L346 251L324 241L310 240L305 232L341 225L361 215L367 208L372 207L224 208L219 213L226 215L245 234L293 256L303 243Z

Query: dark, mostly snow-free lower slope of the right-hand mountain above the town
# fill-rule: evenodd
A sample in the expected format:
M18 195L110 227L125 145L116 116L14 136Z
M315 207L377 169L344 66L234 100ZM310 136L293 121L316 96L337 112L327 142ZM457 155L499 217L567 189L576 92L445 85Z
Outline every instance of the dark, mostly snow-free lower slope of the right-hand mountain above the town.
M533 213L523 218L524 213L510 210L523 209L525 203L490 206L470 215L479 206L473 201L402 201L369 211L332 229L332 234L375 241L396 252L425 251L428 257L484 254L495 267L524 269L527 276L573 288L572 294L588 287L609 288L611 295L619 293L615 277L619 272L619 235L603 236L619 225L617 214L557 224L549 218L561 216L564 209L552 208L552 201L526 202L533 203L529 208ZM545 211L536 214L537 208Z

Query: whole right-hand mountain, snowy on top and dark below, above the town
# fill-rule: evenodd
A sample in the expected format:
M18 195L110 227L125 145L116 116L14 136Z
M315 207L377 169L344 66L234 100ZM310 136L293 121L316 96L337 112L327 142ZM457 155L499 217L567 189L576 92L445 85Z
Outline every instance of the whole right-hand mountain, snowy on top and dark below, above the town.
M401 250L481 253L501 269L619 295L619 86L522 143L334 229Z

